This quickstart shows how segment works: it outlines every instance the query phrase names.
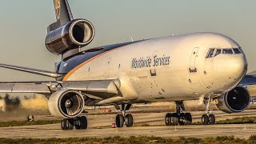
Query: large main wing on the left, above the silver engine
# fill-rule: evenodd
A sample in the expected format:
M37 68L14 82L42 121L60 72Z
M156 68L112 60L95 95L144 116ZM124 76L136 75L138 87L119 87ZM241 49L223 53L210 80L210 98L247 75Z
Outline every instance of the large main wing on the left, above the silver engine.
M0 82L0 93L37 93L47 95L57 90L78 90L93 99L110 98L118 94L118 79L75 81L75 82Z

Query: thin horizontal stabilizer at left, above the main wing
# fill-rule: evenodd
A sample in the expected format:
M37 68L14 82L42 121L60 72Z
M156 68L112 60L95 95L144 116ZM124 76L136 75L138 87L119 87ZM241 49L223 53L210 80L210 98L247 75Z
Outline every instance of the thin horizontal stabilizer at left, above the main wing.
M22 67L22 66L11 66L11 65L6 65L6 64L0 64L0 67L12 69L12 70L19 70L19 71L23 71L23 72L31 73L31 74L38 74L38 75L51 77L51 78L58 78L58 77L62 76L62 74L57 74L57 73L54 73L51 71L37 70L37 69L32 69L32 68L27 68L27 67Z

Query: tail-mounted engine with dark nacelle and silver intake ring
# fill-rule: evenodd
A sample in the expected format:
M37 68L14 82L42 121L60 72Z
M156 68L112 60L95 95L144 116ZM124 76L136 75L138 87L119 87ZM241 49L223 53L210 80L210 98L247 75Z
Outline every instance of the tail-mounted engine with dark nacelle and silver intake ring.
M86 19L75 19L46 36L46 47L53 54L88 45L94 39L94 26Z

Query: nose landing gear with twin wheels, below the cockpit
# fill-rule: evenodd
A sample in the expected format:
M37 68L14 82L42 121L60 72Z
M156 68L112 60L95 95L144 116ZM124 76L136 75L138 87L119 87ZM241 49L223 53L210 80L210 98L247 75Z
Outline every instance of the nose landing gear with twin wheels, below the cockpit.
M211 114L210 100L210 98L204 100L206 105L206 114L202 115L202 125L214 125L215 123L215 116L214 114Z

